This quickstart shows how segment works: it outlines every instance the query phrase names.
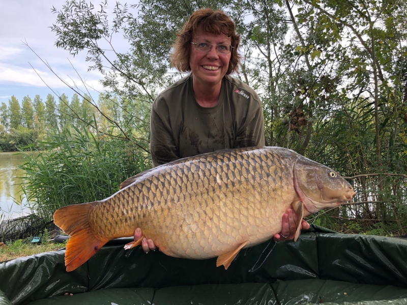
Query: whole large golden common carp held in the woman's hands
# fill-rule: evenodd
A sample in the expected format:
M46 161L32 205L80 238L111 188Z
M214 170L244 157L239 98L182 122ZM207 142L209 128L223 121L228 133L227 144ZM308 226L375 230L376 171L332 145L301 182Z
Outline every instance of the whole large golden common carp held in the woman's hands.
M287 208L293 207L300 220L297 240L303 217L339 206L354 194L339 173L293 150L222 149L139 173L109 198L56 210L54 223L71 235L67 271L136 228L166 255L218 257L217 266L227 269L241 249L281 231Z

